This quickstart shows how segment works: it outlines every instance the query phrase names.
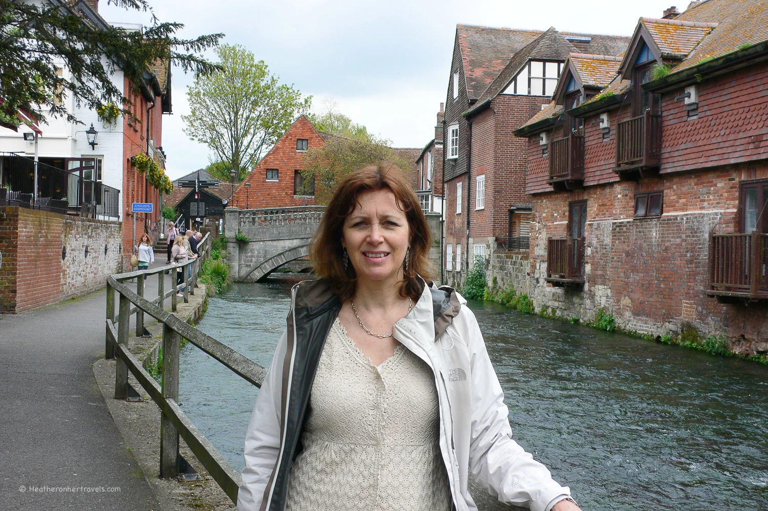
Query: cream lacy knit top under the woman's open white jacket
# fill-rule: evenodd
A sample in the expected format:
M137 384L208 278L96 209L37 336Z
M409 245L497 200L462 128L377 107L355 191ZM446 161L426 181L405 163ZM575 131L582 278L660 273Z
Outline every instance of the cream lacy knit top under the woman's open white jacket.
M376 367L333 323L290 473L288 511L449 511L432 370L406 347Z

